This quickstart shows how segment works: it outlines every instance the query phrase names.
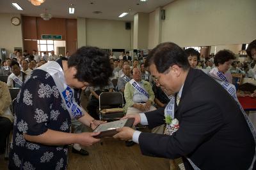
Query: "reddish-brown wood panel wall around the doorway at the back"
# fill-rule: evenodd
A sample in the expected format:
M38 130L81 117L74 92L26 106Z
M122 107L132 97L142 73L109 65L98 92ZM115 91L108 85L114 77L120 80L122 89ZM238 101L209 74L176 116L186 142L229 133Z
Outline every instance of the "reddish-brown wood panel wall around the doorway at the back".
M36 41L25 39L41 39L42 34L61 35L66 41L66 51L74 53L77 50L77 20L68 18L51 18L43 20L40 17L22 16L22 38L24 50L32 53L37 49Z

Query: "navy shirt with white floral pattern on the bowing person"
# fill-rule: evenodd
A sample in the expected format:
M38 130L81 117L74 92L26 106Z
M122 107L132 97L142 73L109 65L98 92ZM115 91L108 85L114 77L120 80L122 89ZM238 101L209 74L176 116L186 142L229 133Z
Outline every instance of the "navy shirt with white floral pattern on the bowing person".
M61 60L57 61L61 64ZM80 104L81 90L74 96ZM23 134L38 136L48 129L70 132L70 115L51 75L36 69L22 85L15 104L9 169L66 169L67 145L49 146L26 141Z

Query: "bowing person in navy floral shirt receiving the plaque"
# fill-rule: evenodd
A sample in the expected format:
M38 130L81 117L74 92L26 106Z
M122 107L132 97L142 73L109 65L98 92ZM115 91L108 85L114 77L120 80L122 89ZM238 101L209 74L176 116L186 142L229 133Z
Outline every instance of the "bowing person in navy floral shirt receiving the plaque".
M108 55L96 47L83 46L70 59L56 62L64 74L61 83L74 89L77 104L81 89L106 85L113 71ZM77 120L92 129L103 123L84 110ZM23 83L13 124L9 169L67 169L68 144L90 146L99 141L93 138L99 133L70 133L70 113L51 74L42 69L35 69Z

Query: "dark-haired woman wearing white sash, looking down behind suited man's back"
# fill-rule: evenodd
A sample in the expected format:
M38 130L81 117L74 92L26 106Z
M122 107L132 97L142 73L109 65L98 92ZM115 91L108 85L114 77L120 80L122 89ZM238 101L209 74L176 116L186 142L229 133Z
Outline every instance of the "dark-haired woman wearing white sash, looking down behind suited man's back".
M236 57L230 50L220 50L214 57L214 64L216 67L210 71L211 76L232 83L232 75L228 69L234 59L236 59Z

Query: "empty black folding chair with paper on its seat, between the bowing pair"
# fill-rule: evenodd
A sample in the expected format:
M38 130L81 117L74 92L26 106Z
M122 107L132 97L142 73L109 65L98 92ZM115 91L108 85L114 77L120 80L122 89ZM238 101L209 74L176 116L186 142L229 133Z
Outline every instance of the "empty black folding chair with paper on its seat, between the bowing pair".
M122 111L113 113L102 113L104 109L122 108ZM99 96L99 117L100 120L116 120L124 117L123 94L120 92L102 92Z

